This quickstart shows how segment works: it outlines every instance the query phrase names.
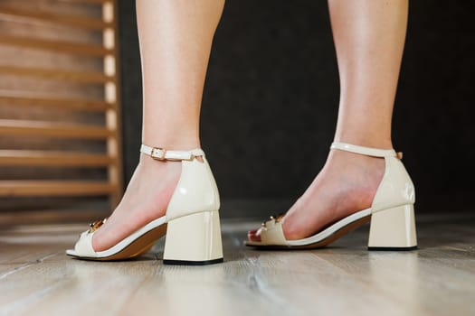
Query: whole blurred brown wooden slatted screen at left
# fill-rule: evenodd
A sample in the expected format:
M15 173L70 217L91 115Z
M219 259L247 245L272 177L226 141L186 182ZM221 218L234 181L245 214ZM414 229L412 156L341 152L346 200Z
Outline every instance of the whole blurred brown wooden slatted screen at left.
M118 203L118 70L116 1L0 0L0 213Z

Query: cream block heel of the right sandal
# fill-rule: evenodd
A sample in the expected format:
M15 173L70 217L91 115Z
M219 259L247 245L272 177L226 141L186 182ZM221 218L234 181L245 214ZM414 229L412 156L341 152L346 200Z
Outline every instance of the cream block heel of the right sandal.
M368 250L417 248L413 204L384 209L371 216Z

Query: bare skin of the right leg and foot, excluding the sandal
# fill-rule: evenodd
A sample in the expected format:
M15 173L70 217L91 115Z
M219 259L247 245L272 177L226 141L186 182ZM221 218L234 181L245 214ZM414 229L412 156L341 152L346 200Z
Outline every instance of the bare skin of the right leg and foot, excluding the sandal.
M329 0L340 103L335 141L390 149L394 97L408 0ZM307 191L282 219L288 239L309 237L371 207L385 172L380 158L331 151ZM260 240L260 230L249 237Z

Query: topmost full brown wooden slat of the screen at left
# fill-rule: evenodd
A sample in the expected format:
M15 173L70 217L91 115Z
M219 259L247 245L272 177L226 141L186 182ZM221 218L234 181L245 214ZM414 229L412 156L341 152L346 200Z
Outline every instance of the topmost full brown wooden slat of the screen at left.
M42 11L31 11L15 8L9 5L0 5L0 14L14 15L21 18L32 18L46 23L59 23L62 25L80 27L90 30L103 30L113 27L111 23L106 23L100 19L87 18L76 15L53 14Z

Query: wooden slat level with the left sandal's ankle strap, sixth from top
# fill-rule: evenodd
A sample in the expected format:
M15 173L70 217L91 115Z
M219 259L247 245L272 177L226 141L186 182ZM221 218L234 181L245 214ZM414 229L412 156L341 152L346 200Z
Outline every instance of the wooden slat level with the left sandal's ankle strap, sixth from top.
M0 150L2 166L98 167L114 162L115 159L106 154Z

